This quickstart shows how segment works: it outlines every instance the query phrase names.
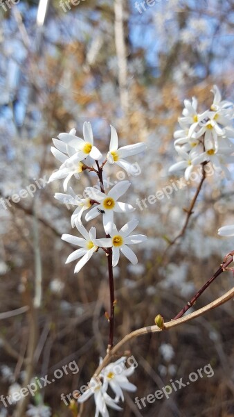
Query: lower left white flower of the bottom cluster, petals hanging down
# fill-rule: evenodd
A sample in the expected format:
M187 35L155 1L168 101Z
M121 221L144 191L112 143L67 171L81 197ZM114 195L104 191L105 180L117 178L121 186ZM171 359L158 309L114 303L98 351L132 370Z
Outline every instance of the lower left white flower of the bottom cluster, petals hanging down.
M122 409L116 404L116 402L107 394L106 389L102 386L101 382L97 379L91 378L89 382L89 388L78 398L78 402L84 402L93 395L96 404L95 417L101 414L102 417L109 417L107 405L112 409L121 411Z

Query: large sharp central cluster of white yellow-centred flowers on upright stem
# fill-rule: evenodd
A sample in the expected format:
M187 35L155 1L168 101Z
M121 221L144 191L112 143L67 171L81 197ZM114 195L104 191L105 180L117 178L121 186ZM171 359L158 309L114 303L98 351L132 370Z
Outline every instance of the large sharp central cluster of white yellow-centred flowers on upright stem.
M105 163L110 163L111 165L116 163L126 170L128 174L134 174L132 164L125 161L125 158L142 152L145 149L145 145L143 143L136 143L135 145L118 148L117 132L111 126L109 152L104 159L98 148L93 145L93 131L89 122L84 123L83 135L84 139L75 136L75 129L72 129L70 133L60 133L58 136L59 139L53 139L55 147L51 147L51 152L55 158L62 162L62 165L57 172L51 175L49 182L55 179L65 178L63 183L64 191L68 190L69 193L55 193L55 198L60 202L77 206L73 215L71 215L71 225L72 227L76 227L82 235L82 237L69 234L62 235L62 240L66 240L66 242L80 247L80 249L75 250L68 257L66 263L81 258L75 265L75 272L79 272L99 248L106 250L112 247L113 266L117 265L120 252L135 265L138 260L128 245L141 243L146 239L146 236L141 234L130 235L138 224L137 220L130 220L119 231L114 224L114 213L132 213L135 210L131 204L118 201L126 193L131 183L129 181L120 181L106 193L100 179L102 179L102 170ZM73 175L79 179L80 174L84 170L96 172L100 181L100 185L98 186L100 189L94 186L87 187L84 190L86 198L80 198L75 195L71 187L68 187L68 183ZM105 238L98 239L96 237L95 227L91 227L89 232L85 229L81 220L84 211L87 211L85 216L87 222L96 218L98 215L102 215L103 227L106 234Z

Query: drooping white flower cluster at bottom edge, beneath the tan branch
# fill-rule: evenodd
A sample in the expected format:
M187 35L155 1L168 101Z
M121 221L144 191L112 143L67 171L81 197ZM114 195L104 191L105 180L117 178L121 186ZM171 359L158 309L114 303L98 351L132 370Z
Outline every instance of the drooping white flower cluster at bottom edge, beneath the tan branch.
M118 406L118 402L120 399L124 400L123 389L132 392L136 391L136 386L127 379L134 373L134 366L126 368L125 361L126 357L121 357L116 362L109 363L102 369L98 378L91 378L89 388L78 398L78 402L84 402L93 395L96 403L95 417L98 417L99 414L102 417L109 417L107 406L121 411L122 409ZM115 393L115 398L111 398L107 393L109 388Z

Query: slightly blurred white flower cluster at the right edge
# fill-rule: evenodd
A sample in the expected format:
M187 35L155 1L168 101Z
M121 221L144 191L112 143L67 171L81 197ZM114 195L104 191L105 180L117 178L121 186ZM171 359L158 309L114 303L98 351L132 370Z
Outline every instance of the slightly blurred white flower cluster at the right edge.
M169 172L185 170L186 181L192 170L200 164L210 162L217 173L230 173L226 163L233 163L234 108L230 101L222 100L217 85L211 90L213 104L203 113L197 111L197 99L185 100L182 117L179 117L180 130L174 132L174 147L182 161L169 168Z

